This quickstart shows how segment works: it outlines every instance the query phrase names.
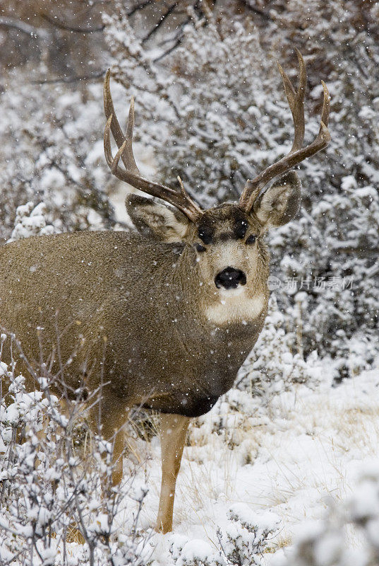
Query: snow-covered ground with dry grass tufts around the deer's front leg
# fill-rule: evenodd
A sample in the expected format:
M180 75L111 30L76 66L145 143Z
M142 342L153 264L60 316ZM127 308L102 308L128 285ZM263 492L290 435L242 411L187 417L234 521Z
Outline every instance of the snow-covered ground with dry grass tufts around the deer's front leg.
M270 510L281 517L282 527L272 540L272 550L291 544L305 519L322 518L332 502L351 494L365 461L377 456L378 392L379 369L373 369L334 388L329 379L313 391L294 386L272 397L265 407L261 398L255 398L248 415L229 414L231 443L216 432L201 434L212 429L207 424L227 406L219 403L203 417L200 429L194 425L190 432L193 446L184 449L176 488L175 536L200 539L216 548L217 527L227 523L230 507L243 502L252 512ZM150 445L141 444L150 452L145 473L138 479L150 488L140 524L148 529L157 515L160 448L157 437ZM119 517L121 530L125 519ZM172 563L172 540L172 533L152 536L154 566ZM267 564L271 557L266 555Z

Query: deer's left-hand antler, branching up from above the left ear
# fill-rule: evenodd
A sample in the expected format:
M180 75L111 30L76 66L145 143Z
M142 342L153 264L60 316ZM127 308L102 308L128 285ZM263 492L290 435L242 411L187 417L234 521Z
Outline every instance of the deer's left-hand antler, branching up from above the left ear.
M134 159L132 145L134 100L131 98L131 106L129 108L128 125L126 126L125 136L119 125L119 120L117 120L116 112L114 112L114 105L109 87L110 76L111 71L108 69L104 79L104 112L105 117L107 118L107 124L104 129L104 154L110 170L113 175L121 181L125 181L129 185L136 187L136 189L147 192L148 195L152 195L152 197L159 197L160 199L173 204L174 207L186 214L192 222L196 222L203 214L203 211L188 195L184 189L183 183L181 183L181 180L179 180L181 190L178 191L171 189L170 187L166 187L165 185L154 183L140 174ZM112 132L114 141L116 141L117 147L119 148L119 151L117 151L114 157L112 156L110 132ZM120 158L124 163L125 169L119 166Z

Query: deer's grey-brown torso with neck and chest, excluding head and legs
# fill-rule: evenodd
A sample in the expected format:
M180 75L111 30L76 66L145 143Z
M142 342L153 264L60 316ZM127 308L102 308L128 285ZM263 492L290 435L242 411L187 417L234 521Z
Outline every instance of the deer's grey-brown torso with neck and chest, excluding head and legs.
M114 231L28 238L0 248L0 321L37 363L37 327L45 360L58 337L64 362L83 337L65 370L73 390L100 386L104 351L104 395L118 408L196 417L231 387L267 304L266 293L257 318L217 325L200 282L189 246Z

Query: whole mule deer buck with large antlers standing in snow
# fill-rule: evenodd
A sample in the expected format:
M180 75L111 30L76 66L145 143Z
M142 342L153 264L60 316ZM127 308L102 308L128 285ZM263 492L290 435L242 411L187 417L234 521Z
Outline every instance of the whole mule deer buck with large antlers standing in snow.
M297 91L279 66L294 120L289 154L248 180L239 202L207 210L191 199L180 179L181 189L174 190L140 175L132 149L133 100L124 134L108 71L107 164L117 178L161 201L127 197L134 233L61 233L15 241L0 250L0 323L16 333L26 357L36 363L40 359L37 327L44 329L44 356L57 352L58 326L62 359L71 356L78 340L84 344L66 366L68 386L74 390L87 380L88 389L95 391L100 376L106 383L102 434L114 439L115 484L122 477L122 427L129 410L143 405L160 412L157 529L163 533L172 530L188 423L231 388L263 328L269 298L263 238L268 229L293 219L301 200L301 183L289 170L330 141L330 96L323 83L320 130L303 147L306 68L299 51L297 56ZM119 148L115 156L111 132Z

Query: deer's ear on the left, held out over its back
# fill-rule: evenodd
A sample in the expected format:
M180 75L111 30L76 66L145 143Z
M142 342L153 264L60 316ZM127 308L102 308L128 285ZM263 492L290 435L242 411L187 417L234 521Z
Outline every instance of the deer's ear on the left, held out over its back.
M139 195L128 195L125 204L131 221L144 236L171 243L186 239L191 221L180 210Z

